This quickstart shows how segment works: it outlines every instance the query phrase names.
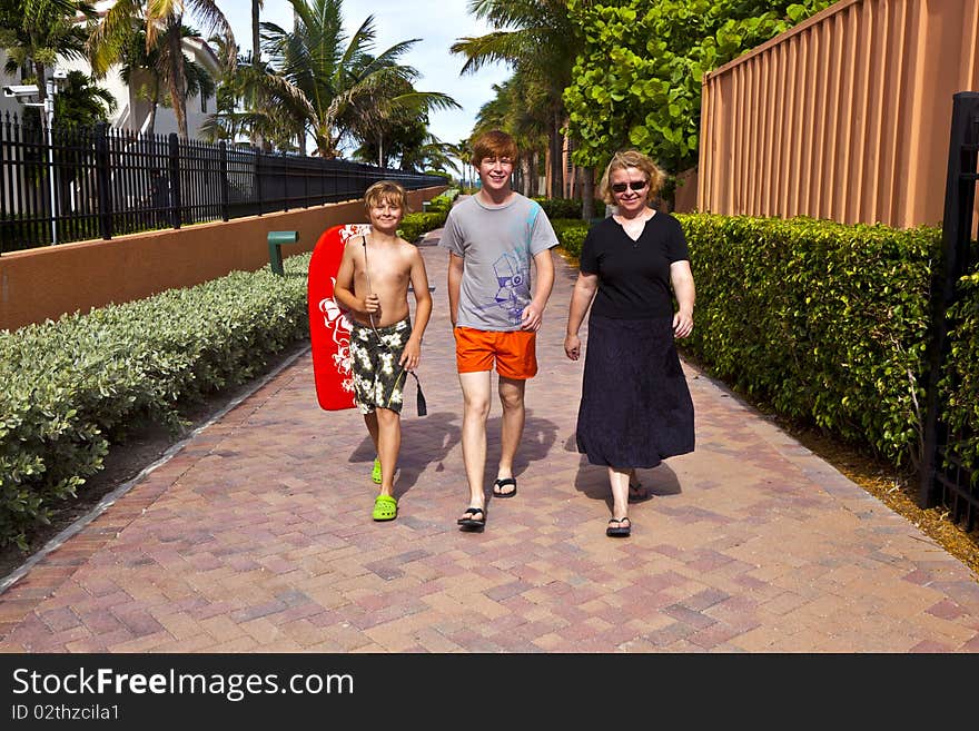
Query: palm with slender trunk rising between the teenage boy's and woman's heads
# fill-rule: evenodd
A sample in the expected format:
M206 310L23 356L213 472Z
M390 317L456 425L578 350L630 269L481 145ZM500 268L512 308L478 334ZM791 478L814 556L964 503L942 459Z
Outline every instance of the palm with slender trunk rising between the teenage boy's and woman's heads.
M564 189L562 166L565 111L562 93L571 85L581 47L581 30L571 21L566 0L469 0L468 10L488 21L493 32L453 43L453 53L466 57L462 73L485 63L504 61L533 79L545 91L548 115L552 198Z

